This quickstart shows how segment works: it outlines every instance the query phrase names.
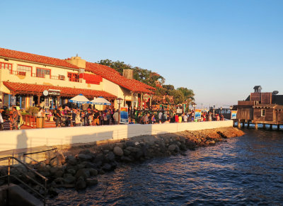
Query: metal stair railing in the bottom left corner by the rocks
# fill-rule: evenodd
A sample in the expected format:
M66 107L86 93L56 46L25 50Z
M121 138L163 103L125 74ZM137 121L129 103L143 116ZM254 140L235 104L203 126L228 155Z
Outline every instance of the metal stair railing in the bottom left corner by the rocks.
M17 181L19 181L20 183L22 183L23 185L25 185L25 187L27 187L28 189L32 190L33 193L37 194L40 198L42 198L42 201L44 203L44 205L46 205L46 195L47 195L47 181L48 179L45 176L42 176L42 174L38 173L37 171L35 171L33 168L31 168L30 166L26 165L25 163L23 163L23 161L19 160L18 158L14 157L14 156L6 156L3 158L0 158L0 161L5 161L8 160L8 174L5 176L0 176L0 178L8 178L8 185L10 185L11 183L11 177L15 178ZM38 181L36 181L34 178L31 178L30 176L28 176L27 173L23 173L22 171L18 170L18 168L12 167L13 169L16 169L19 172L23 173L23 176L25 176L25 178L28 178L30 181L33 181L33 183L35 183L36 185L39 185L40 188L44 189L44 195L40 194L39 192L37 192L37 190L33 189L32 187L30 187L30 185L28 185L27 183L23 182L20 180L20 178L14 176L11 174L11 160L16 160L18 161L19 164L22 164L28 171L32 171L33 173L35 173L35 175L39 176L40 178L42 178L42 180L44 180L44 185L42 183L39 183Z

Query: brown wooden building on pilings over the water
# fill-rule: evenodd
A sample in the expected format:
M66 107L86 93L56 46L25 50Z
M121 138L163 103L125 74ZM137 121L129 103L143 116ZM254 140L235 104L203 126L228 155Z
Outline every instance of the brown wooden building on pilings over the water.
M261 86L255 86L254 92L245 101L238 101L237 119L238 127L243 127L245 123L250 127L250 123L258 129L258 124L262 124L263 128L269 125L270 129L273 125L283 125L283 95L278 95L278 91L261 92Z

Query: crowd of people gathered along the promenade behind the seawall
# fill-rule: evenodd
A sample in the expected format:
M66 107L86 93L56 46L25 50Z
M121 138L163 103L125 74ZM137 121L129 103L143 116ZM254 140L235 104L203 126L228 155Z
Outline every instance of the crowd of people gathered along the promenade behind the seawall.
M129 124L156 124L171 122L204 122L224 120L223 115L204 111L200 118L195 118L193 110L187 113L177 114L171 110L128 110ZM68 105L59 106L56 110L45 110L39 108L37 118L44 118L46 121L53 120L56 127L78 127L78 126L98 126L98 125L117 125L119 112L115 108L98 110L88 107L86 110L70 108ZM23 125L23 117L19 107L13 107L12 113L0 113L0 130L19 130Z

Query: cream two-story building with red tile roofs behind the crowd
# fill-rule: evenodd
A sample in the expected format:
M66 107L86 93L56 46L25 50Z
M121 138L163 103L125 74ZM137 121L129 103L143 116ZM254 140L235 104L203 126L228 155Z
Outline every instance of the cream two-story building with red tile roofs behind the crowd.
M154 89L81 57L57 59L0 48L0 105L54 108L82 93L90 100L103 96L115 108L116 98L134 107L143 105L142 96Z

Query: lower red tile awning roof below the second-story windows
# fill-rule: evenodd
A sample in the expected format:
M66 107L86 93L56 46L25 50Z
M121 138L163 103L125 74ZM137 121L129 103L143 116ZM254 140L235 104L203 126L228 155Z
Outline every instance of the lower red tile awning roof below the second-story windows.
M117 98L117 96L114 96L105 91L96 91L86 88L71 88L71 87L39 85L39 84L23 84L23 83L10 82L10 81L4 81L3 84L9 90L14 91L16 93L27 93L27 92L42 93L43 91L48 89L56 89L56 90L60 90L61 96L73 97L82 93L83 96L86 96L87 98L93 98L98 96L103 96L104 98Z

